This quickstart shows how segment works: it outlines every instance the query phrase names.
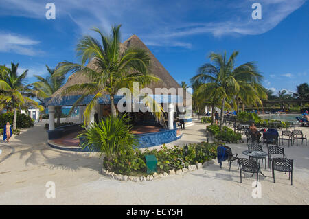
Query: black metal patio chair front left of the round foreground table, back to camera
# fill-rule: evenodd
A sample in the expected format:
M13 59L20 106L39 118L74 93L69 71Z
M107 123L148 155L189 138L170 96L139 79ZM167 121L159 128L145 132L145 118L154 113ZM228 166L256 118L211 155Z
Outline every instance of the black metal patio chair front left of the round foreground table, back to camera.
M239 158L238 166L240 170L240 183L242 183L242 171L244 173L251 172L252 174L256 173L256 181L257 181L257 186L258 186L259 175L261 178L260 163L258 163L258 161L255 161L253 159ZM244 175L244 178L245 178L245 175Z

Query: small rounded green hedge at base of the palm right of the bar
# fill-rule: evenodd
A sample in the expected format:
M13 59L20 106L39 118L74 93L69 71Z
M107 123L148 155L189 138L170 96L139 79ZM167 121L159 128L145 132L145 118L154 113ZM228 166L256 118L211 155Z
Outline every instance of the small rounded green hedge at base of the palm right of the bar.
M207 126L206 130L211 132L211 134L218 141L237 143L237 141L240 141L242 139L242 135L240 133L234 132L231 128L227 126L224 126L222 128L222 132L220 131L220 127L217 125Z

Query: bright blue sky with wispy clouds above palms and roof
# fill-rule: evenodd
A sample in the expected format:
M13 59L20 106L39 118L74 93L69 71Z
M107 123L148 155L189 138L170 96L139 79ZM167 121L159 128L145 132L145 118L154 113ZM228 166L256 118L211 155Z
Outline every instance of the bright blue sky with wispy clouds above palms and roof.
M56 5L56 19L45 5ZM262 5L253 20L251 5ZM209 62L211 51L231 54L236 65L255 62L263 85L295 91L309 82L308 0L1 0L0 65L19 62L20 70L46 76L45 64L78 62L75 46L91 27L109 33L122 24L122 41L137 34L177 82L186 81Z

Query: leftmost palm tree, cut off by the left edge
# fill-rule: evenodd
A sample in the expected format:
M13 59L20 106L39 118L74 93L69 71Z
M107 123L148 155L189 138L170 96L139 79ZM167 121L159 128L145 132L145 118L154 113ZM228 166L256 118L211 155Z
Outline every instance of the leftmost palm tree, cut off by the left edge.
M0 108L10 108L14 111L13 130L16 130L17 111L27 111L28 106L35 106L40 109L43 107L38 102L30 99L31 92L25 86L25 78L27 71L25 70L21 75L18 75L17 69L19 64L11 63L11 67L1 66L0 78Z

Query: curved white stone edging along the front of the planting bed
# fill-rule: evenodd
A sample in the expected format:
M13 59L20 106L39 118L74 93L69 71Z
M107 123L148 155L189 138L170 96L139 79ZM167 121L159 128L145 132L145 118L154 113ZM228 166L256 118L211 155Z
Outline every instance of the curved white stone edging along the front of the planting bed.
M104 176L108 176L109 178L113 178L115 180L118 181L134 181L134 182L142 182L142 181L152 181L154 179L159 179L159 178L166 178L168 176L175 176L175 175L180 175L180 174L185 174L187 172L192 172L194 170L198 170L201 169L203 167L206 167L208 165L214 164L214 160L210 160L210 161L205 161L203 164L202 163L196 163L196 165L189 165L188 168L183 168L180 170L170 170L169 173L164 172L163 174L157 174L157 172L155 172L152 175L148 175L148 176L126 176L126 175L122 175L122 174L115 174L115 172L110 172L108 170L104 170L104 168L102 168L102 174Z

